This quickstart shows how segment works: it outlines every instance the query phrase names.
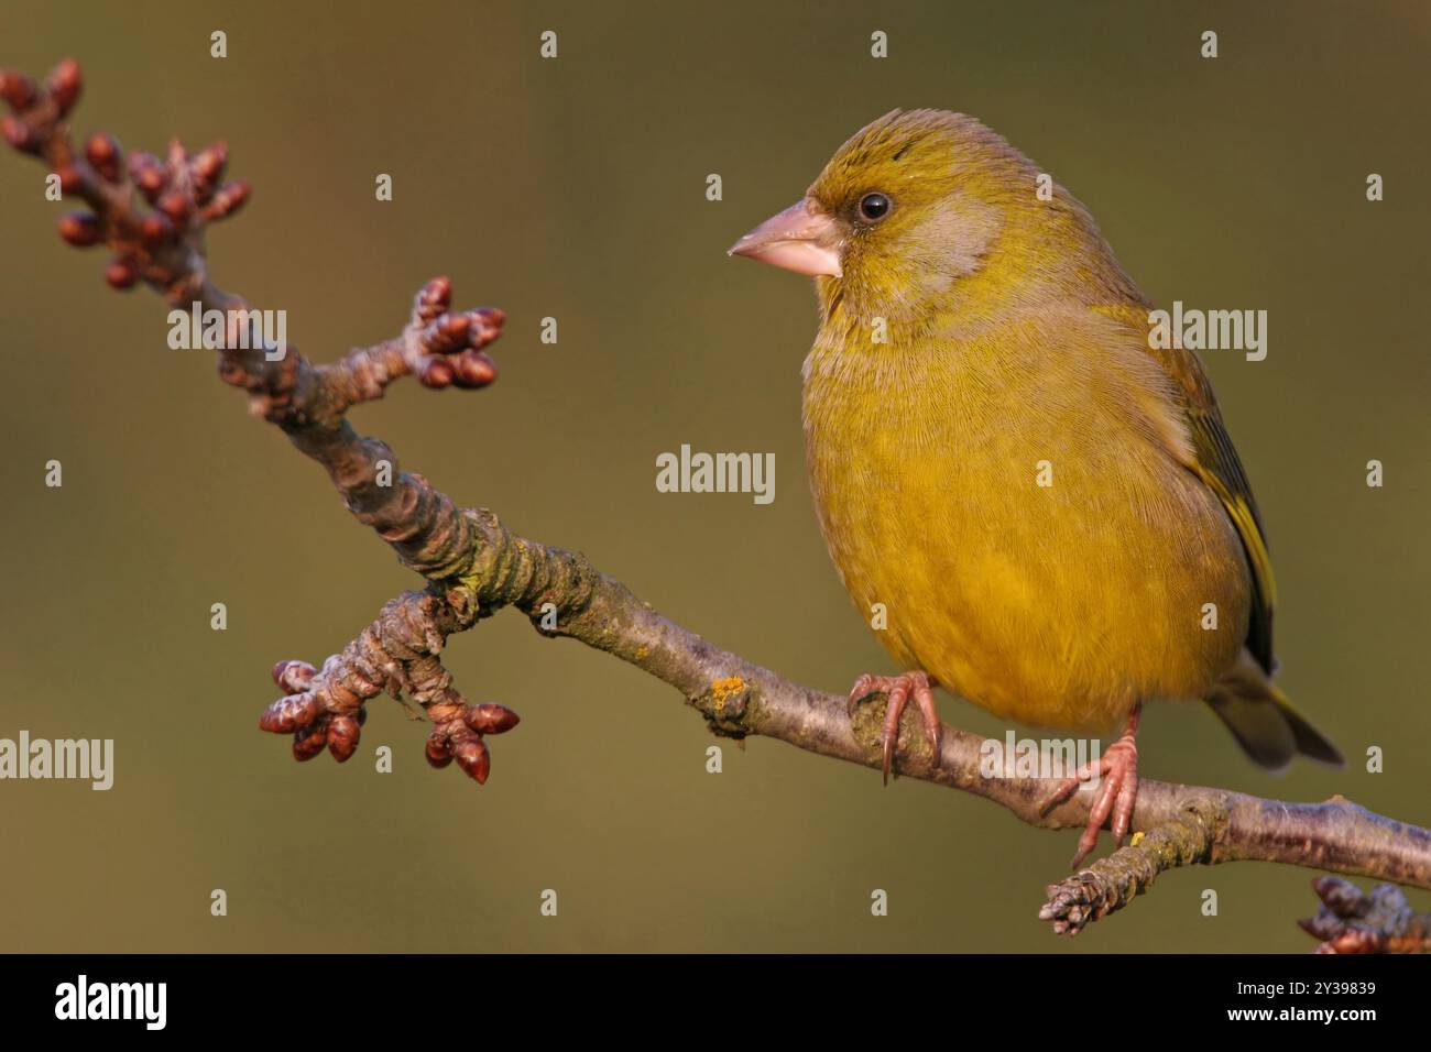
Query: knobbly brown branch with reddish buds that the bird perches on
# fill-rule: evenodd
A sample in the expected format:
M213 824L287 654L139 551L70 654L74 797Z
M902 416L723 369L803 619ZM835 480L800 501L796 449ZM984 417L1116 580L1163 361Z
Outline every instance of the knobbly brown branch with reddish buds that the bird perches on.
M67 127L79 90L80 72L72 60L60 63L44 89L16 73L0 74L0 96L14 112L4 119L6 139L41 157L60 175L64 193L90 208L62 220L62 236L80 246L107 245L114 260L106 278L116 288L142 281L170 303L197 302L220 312L226 321L222 379L243 388L255 415L276 424L318 461L355 518L426 583L388 603L322 668L305 661L275 666L273 678L285 697L263 713L263 730L292 734L299 760L326 747L343 761L358 746L365 701L379 693L399 700L406 694L432 721L429 763L442 767L455 759L465 773L485 781L491 756L484 739L511 730L517 716L502 706L468 704L439 656L449 635L514 607L544 635L578 640L668 683L716 734L760 734L820 756L881 766L883 694L847 713L843 696L791 683L661 617L585 557L518 537L485 508L458 508L421 475L399 472L389 447L358 437L346 411L381 398L404 375L414 374L432 388L491 384L497 369L484 348L501 333L499 311L452 312L449 282L436 278L418 292L396 338L352 351L332 365L312 365L292 346L240 341L249 306L212 283L203 245L207 225L232 215L249 196L246 183L218 185L226 149L218 143L190 156L176 142L163 162L132 155L126 175L119 143L94 135L80 157ZM982 796L1030 826L1086 823L1090 793L1076 793L1045 812L1053 783L985 777L982 746L980 737L946 726L934 757L910 713L900 724L897 751L902 773ZM1193 863L1284 862L1431 887L1431 832L1342 797L1282 803L1142 780L1133 829L1139 833L1129 846L1049 887L1040 917L1056 932L1076 935L1148 890L1159 873ZM1357 907L1349 893L1337 902ZM1335 925L1345 927L1348 916L1307 923L1335 942L1342 936ZM1390 950L1425 943L1424 925L1415 929L1420 935L1408 935L1410 922L1395 916L1401 927L1382 925L1379 939L1358 936L1359 945Z

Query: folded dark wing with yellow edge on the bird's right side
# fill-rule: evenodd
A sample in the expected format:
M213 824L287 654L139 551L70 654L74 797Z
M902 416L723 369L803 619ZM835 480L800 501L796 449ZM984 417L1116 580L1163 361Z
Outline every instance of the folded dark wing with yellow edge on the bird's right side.
M1193 471L1222 501L1232 524L1242 538L1248 565L1252 568L1252 615L1248 620L1246 647L1268 674L1272 673L1272 608L1276 605L1276 583L1272 580L1272 560L1268 555L1266 538L1262 532L1262 517L1252 497L1242 461L1232 445L1212 385L1202 372L1202 362L1185 348L1156 348L1146 338L1151 331L1148 306L1119 306L1110 313L1126 322L1135 332L1143 333L1142 345L1176 384L1182 411L1192 438L1193 459L1188 468Z

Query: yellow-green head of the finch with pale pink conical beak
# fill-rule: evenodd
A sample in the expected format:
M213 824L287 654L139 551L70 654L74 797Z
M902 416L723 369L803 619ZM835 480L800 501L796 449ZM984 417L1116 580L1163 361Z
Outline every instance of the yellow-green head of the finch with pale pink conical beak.
M1050 249L1075 248L1089 232L1102 243L1076 200L1037 199L1037 177L1027 157L973 117L893 110L730 255L814 275L827 306L840 298L860 316L957 309L959 282L979 275L980 298L1012 295L1020 272L1049 262Z

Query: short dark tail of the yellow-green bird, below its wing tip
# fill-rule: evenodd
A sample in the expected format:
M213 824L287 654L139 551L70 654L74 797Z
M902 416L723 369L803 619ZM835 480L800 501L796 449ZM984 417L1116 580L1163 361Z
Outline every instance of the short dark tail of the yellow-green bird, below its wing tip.
M1208 704L1259 767L1279 770L1298 753L1338 767L1345 763L1337 746L1292 707L1246 650L1218 680Z

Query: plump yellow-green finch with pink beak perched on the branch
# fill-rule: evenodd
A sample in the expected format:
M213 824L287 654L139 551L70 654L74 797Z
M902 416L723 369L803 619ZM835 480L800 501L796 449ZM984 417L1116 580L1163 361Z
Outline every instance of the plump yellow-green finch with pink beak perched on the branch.
M1073 866L1129 832L1145 703L1202 700L1265 769L1337 747L1274 683L1262 517L1196 354L1089 210L976 117L892 110L728 250L813 276L803 366L820 530L903 668L884 781L933 690L1000 719L1122 729L1045 812L1096 781ZM870 618L871 621L877 618Z

